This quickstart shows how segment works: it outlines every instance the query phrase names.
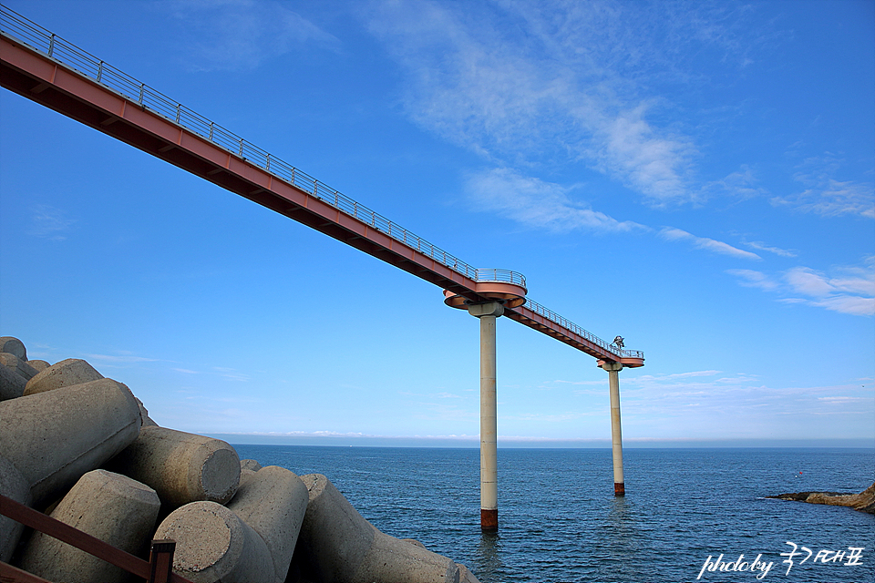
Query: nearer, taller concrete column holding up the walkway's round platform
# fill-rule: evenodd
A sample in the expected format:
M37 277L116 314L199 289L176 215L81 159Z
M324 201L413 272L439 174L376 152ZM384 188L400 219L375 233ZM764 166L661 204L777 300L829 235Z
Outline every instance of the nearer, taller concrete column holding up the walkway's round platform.
M498 426L495 396L495 321L504 313L499 302L468 306L480 321L480 528L499 529Z

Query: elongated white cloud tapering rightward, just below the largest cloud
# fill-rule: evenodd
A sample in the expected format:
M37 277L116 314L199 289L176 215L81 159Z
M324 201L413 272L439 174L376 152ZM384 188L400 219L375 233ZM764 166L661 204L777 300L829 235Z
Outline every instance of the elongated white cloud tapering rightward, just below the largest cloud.
M498 212L511 220L549 230L646 230L632 221L608 215L574 202L570 188L523 176L512 169L473 173L466 180L468 196L481 210Z

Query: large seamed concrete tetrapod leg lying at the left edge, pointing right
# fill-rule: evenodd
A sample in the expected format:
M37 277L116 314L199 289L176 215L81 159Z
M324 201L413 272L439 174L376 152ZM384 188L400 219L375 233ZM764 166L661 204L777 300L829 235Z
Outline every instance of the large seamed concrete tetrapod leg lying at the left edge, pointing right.
M30 394L0 402L0 455L40 506L132 444L140 423L134 395L112 379Z

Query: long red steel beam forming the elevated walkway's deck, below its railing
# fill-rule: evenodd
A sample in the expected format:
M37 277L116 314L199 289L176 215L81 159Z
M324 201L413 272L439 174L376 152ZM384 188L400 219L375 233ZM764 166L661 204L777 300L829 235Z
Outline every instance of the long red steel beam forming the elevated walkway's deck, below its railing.
M0 37L0 85L469 302L489 302L507 292L507 283L476 281L455 271L426 252L390 237L368 222L277 178L210 139L202 138L7 36ZM519 290L520 295L525 295L524 288ZM506 314L598 359L643 366L643 358L618 357L598 343L525 306L508 308Z

